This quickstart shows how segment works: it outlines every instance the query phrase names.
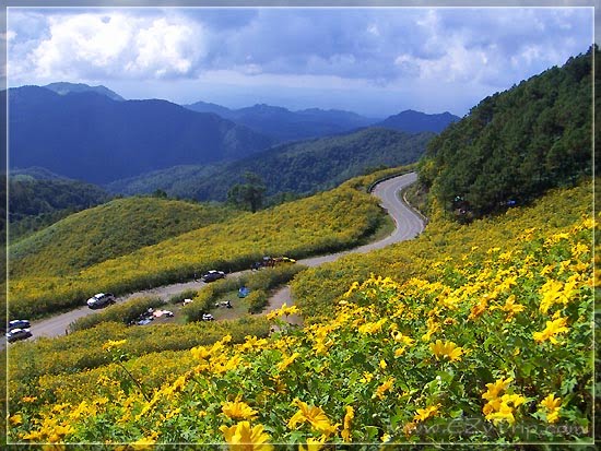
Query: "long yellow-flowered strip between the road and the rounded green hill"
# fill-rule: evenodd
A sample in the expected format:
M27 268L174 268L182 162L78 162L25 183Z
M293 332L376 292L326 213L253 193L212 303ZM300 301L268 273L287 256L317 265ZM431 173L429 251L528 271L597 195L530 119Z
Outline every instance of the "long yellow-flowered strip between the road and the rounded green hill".
M239 214L226 223L198 228L82 270L75 270L67 254L51 260L49 253L45 259L32 253L32 265L24 265L23 259L12 269L12 274L20 276L11 277L10 313L32 318L80 306L93 293L121 295L190 280L208 270L248 269L266 254L298 259L341 250L373 234L384 215L375 198L341 187L255 214ZM51 229L44 232L51 234ZM109 228L109 235L120 232ZM59 249L69 242L57 240L50 245ZM14 254L15 250L11 251ZM40 268L43 262L48 270L42 271L42 266L34 272L33 268Z

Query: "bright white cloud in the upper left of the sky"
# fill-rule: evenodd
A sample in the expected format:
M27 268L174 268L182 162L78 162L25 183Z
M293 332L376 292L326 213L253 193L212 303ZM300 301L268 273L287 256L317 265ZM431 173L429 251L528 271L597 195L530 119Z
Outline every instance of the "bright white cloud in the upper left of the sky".
M48 36L12 76L44 80L170 78L191 74L205 55L204 32L185 17L84 13L48 17Z

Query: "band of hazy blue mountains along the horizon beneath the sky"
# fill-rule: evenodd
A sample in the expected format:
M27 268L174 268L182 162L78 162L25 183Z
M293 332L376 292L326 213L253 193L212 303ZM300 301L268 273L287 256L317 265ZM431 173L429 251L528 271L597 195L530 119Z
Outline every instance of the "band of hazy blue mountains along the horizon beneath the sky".
M126 100L105 86L66 82L11 88L9 103L11 169L39 166L99 185L174 166L245 159L278 143L354 133L374 123L413 133L439 132L459 119L448 112L404 111L379 121L333 109L229 109L203 102L180 106L160 99ZM405 139L400 137L396 139ZM389 163L409 163L399 158ZM363 167L351 173L369 166L373 162L367 159L355 162Z

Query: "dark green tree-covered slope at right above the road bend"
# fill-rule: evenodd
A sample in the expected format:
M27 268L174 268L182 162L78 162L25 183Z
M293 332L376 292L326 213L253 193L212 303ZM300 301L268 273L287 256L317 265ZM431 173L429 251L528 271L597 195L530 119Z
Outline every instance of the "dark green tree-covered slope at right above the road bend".
M486 97L431 142L421 179L469 219L590 176L591 76L592 49Z

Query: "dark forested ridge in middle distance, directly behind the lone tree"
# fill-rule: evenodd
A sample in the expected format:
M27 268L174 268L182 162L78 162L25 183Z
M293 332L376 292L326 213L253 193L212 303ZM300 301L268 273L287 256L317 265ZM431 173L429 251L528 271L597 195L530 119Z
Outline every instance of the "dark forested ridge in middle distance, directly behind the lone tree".
M380 166L416 162L434 133L408 134L369 128L354 133L282 144L238 162L178 166L113 182L109 191L126 194L165 190L170 195L225 200L247 171L259 175L267 194L309 193Z

